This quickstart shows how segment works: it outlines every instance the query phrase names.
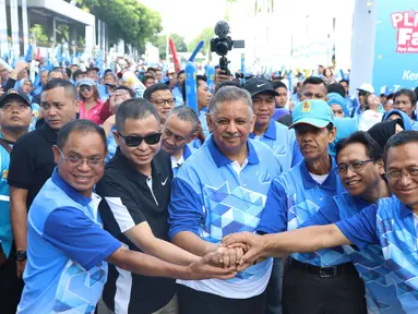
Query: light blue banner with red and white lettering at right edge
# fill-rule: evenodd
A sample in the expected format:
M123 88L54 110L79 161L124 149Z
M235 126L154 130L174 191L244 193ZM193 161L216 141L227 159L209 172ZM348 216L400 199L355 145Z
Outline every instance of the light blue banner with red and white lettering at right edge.
M382 86L416 88L418 86L418 2L379 1L377 9L372 78L374 89L380 90Z

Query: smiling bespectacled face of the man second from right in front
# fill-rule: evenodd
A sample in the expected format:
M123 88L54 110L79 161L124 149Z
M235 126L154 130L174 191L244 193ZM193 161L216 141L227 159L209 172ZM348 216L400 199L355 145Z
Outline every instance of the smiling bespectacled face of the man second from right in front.
M339 150L336 161L337 165L349 165L368 159L371 158L367 154L367 147L361 143L353 143ZM356 171L347 168L346 171L339 173L339 179L344 188L353 196L365 196L372 195L373 190L375 190L383 180L383 161L377 160L358 166Z

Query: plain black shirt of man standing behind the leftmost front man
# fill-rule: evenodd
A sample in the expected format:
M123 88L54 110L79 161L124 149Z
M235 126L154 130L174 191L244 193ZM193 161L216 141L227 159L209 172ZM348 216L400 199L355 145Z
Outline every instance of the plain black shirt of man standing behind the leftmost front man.
M57 144L57 134L56 130L44 124L23 135L13 146L8 182L10 186L28 191L27 209L56 167L52 146Z

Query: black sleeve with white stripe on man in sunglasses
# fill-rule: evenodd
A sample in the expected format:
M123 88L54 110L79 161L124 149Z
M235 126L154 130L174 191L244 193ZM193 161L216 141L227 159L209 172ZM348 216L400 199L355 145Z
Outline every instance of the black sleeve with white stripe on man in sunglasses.
M101 196L98 206L106 229L115 237L146 221L132 196L114 180L101 180L96 185Z

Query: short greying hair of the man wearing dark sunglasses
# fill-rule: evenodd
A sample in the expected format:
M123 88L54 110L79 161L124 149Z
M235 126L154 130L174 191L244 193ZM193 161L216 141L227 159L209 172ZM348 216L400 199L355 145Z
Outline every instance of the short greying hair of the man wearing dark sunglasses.
M116 130L121 132L128 119L144 120L150 116L154 116L157 123L160 123L160 118L154 105L144 98L132 98L124 100L119 105L116 111Z

